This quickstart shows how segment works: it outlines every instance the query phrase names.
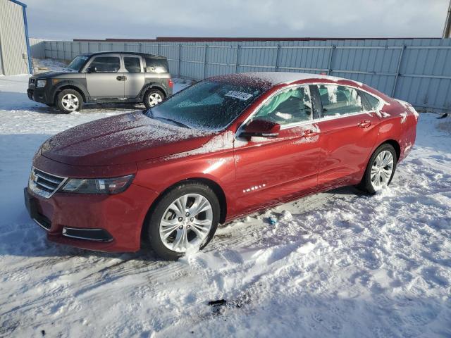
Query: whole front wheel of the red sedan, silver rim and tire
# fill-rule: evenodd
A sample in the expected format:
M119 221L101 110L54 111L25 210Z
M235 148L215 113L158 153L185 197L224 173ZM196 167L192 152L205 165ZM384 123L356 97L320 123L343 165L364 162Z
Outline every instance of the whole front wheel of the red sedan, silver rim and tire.
M184 215L178 208L182 201ZM199 207L202 211L196 213ZM204 249L216 232L220 213L218 198L208 186L197 182L179 184L165 192L151 208L144 224L144 239L160 258L176 261L187 250Z

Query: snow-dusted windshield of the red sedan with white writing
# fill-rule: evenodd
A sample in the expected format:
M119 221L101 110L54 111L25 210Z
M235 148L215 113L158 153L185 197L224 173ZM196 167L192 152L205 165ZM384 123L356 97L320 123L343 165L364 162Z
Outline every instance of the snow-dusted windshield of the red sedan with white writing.
M202 81L149 109L149 118L199 130L223 130L263 92L238 84Z

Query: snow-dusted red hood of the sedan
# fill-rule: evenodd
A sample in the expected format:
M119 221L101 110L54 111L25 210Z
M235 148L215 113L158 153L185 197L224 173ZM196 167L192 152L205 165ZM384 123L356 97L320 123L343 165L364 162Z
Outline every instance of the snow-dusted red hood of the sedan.
M42 144L41 155L69 165L136 163L197 149L213 134L169 125L136 112L56 134Z

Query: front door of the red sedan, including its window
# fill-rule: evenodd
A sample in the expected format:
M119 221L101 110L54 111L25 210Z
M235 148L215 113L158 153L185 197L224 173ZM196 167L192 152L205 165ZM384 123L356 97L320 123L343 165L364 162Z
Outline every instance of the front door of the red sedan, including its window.
M237 205L246 206L239 213L316 189L320 149L311 102L309 86L282 89L248 120L279 123L278 137L235 139Z

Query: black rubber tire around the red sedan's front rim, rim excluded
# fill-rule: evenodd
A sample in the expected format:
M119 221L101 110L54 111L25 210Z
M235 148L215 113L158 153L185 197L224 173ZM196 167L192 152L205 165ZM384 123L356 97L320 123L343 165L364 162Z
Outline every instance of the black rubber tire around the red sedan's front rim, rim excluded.
M216 229L218 228L221 207L219 205L218 197L210 187L198 182L187 182L178 184L177 186L164 192L156 202L155 206L152 206L149 211L149 215L147 215L147 218L144 221L143 234L144 241L150 244L157 256L166 261L177 261L178 258L184 256L184 253L172 251L168 249L163 242L161 242L159 233L160 221L161 218L163 218L166 208L168 208L168 206L170 206L175 199L178 199L180 196L185 194L201 194L206 197L206 199L209 200L213 211L213 222L211 224L210 232L202 245L199 247L199 250L204 249L206 244L209 244L211 239L214 237Z

